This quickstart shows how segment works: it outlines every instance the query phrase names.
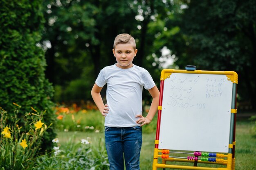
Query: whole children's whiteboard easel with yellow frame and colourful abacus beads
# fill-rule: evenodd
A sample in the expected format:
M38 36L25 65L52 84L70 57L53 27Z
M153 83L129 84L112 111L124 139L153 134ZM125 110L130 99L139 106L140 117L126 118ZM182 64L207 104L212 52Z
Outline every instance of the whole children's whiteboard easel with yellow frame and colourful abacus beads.
M235 169L237 83L232 71L162 70L153 170Z

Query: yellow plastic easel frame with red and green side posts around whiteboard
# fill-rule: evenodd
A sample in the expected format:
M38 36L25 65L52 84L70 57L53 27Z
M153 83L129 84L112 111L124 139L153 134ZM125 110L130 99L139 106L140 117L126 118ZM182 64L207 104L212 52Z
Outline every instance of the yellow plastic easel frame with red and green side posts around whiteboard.
M181 166L181 165L170 165L166 164L166 161L177 161L177 162L194 162L195 160L188 160L184 158L174 158L168 157L168 154L164 154L163 150L158 149L159 144L159 129L160 129L160 120L162 113L162 96L163 96L163 86L164 80L169 78L172 73L186 73L186 74L222 74L226 75L227 79L233 83L232 89L232 103L231 103L231 127L230 127L230 139L229 139L229 152L227 154L222 154L223 159L220 162L209 162L197 160L196 163L209 163L209 164L221 164L225 165L226 168L211 168L211 167L197 167L197 166ZM175 69L164 69L161 72L160 76L160 99L158 106L158 118L157 118L157 133L155 139L155 149L154 149L154 158L153 158L153 170L157 168L176 168L176 169L189 169L189 170L235 170L235 126L236 126L236 90L238 84L238 74L234 71L207 71L207 70L175 70ZM162 154L161 154L162 153ZM166 158L166 156L168 158ZM162 163L158 163L158 159L162 159Z

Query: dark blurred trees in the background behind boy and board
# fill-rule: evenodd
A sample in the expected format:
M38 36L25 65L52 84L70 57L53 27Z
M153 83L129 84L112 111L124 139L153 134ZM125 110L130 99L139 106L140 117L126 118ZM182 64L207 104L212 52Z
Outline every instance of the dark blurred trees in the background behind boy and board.
M157 86L162 59L173 59L167 68L197 65L201 70L232 70L239 76L240 100L255 103L256 56L255 1L44 1L46 75L56 101L84 100L99 71L114 64L112 44L119 33L130 33L137 42L136 65L146 68ZM118 16L118 17L117 17ZM170 55L162 56L168 48ZM86 76L83 76L86 75ZM88 83L82 83L82 81ZM73 88L74 87L74 88ZM57 88L57 87L56 87ZM249 98L248 98L249 96ZM150 101L150 95L144 94Z

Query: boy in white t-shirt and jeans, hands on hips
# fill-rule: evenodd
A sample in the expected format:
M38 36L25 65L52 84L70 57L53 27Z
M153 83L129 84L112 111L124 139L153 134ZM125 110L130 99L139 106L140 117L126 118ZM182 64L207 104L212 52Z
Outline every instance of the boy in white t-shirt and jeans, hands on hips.
M137 54L135 39L119 34L112 49L117 63L101 70L92 87L92 98L105 117L105 142L110 170L139 170L142 127L149 124L157 111L159 90L144 68L132 63ZM100 92L107 85L107 104ZM146 117L142 114L142 89L153 100Z

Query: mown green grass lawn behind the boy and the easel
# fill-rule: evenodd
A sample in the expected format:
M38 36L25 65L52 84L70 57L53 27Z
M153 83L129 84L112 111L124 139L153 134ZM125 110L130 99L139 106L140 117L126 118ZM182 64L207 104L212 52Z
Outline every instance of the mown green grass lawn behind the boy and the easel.
M254 155L256 153L256 138L252 137L249 132L251 126L252 124L249 122L238 121L236 123L236 170L256 170L256 157ZM99 146L99 142L101 145L104 145L104 133L102 132L58 132L58 139L61 145L65 144L72 136L74 136L74 141L76 142L90 137L92 146ZM154 148L155 133L143 133L140 158L141 170L152 169ZM185 163L185 165L187 164ZM200 166L200 164L198 164L198 166Z

